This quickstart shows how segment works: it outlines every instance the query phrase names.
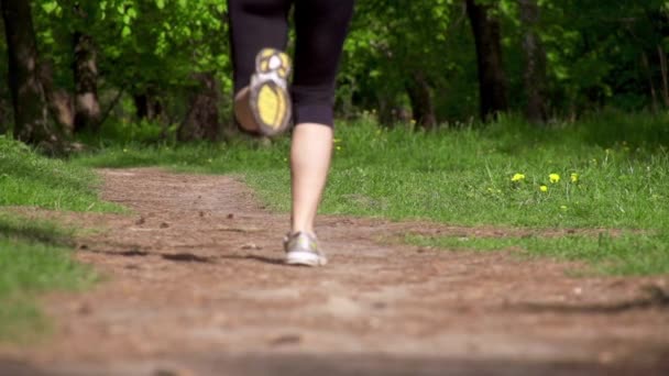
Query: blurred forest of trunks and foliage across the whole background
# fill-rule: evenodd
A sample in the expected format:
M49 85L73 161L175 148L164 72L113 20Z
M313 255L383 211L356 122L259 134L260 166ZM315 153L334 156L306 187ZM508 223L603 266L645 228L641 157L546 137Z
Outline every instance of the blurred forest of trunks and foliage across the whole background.
M226 0L0 7L0 134L54 151L234 134ZM666 111L668 52L665 0L359 0L337 113L432 129Z

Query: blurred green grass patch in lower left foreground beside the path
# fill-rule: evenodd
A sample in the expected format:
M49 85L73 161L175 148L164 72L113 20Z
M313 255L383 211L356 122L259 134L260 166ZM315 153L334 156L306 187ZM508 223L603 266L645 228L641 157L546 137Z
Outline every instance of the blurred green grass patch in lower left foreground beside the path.
M50 325L35 306L45 291L81 289L97 276L72 259L72 231L0 212L0 342L39 339Z

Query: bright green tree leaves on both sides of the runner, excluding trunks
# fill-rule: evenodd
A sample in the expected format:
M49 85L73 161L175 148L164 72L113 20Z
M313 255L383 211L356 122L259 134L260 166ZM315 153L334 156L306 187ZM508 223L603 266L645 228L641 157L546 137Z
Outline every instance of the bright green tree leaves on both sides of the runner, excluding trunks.
M502 23L512 111L520 112L526 101L523 42L528 31L539 35L546 49L547 104L553 117L663 103L666 0L537 0L540 15L531 30L520 21L517 1L479 2L491 5L491 16ZM58 88L73 89L73 34L80 32L97 45L101 92L149 93L165 109L160 121L179 123L196 88L194 74L213 71L223 93L221 107L229 107L226 0L33 0L33 12L40 52L53 65ZM0 53L4 51L2 38ZM6 59L0 59L2 71ZM386 123L410 119L407 86L416 74L429 82L439 121L467 122L478 115L476 59L464 2L358 2L339 76L339 113L350 119L375 112ZM9 98L9 92L0 96Z

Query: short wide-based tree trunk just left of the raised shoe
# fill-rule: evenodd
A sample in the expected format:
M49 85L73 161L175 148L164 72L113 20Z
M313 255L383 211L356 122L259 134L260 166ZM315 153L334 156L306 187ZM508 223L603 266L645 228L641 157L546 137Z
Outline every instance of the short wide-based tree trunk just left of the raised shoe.
M218 103L220 88L212 73L195 75L200 84L190 96L188 115L179 126L179 141L218 141L221 133Z

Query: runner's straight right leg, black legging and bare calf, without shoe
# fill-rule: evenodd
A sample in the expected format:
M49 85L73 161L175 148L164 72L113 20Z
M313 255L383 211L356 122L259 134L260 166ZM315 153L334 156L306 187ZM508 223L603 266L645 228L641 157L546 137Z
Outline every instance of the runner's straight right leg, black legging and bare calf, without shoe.
M296 0L292 231L314 233L332 153L334 80L353 0Z

